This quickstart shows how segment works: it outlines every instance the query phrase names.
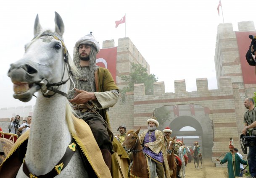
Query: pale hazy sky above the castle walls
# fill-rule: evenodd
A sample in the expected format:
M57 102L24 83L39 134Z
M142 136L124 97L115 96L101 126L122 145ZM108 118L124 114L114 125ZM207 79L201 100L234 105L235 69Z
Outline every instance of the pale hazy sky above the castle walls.
M208 78L216 89L214 54L219 0L1 0L0 1L0 108L34 105L13 99L13 84L7 77L11 63L22 57L24 44L33 38L34 19L39 14L43 28L54 29L54 11L65 24L64 42L73 54L77 39L93 32L100 42L124 37L125 24L115 21L126 14L129 37L150 65L150 73L174 92L174 80L185 79L187 91L196 90L197 78ZM253 21L255 0L222 0L224 22Z

